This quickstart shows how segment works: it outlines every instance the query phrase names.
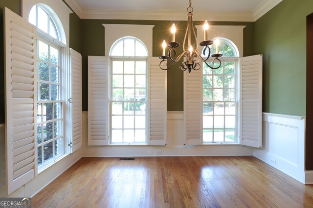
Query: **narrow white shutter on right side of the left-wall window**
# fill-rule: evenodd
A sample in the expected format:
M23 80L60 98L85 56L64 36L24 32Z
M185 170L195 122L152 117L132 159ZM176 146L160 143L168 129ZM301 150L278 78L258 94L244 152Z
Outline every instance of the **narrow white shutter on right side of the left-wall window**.
M82 147L82 55L69 49L71 68L71 149Z

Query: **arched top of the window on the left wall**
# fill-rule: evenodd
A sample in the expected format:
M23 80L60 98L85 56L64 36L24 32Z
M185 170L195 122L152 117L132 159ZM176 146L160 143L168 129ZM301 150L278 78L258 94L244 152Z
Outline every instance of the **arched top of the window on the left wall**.
M49 6L45 4L34 5L30 10L28 21L51 37L66 43L62 23Z

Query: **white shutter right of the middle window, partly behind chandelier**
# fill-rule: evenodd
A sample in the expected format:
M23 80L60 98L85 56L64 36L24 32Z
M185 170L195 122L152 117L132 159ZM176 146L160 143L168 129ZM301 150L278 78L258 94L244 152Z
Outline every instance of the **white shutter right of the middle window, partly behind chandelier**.
M160 59L150 57L149 70L149 139L150 145L166 145L167 71Z

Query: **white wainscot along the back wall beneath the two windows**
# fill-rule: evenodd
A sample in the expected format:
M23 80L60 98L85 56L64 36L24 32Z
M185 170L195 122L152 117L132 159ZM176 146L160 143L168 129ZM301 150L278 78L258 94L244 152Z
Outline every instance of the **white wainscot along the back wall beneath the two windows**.
M127 156L226 156L252 155L253 149L242 145L183 145L183 112L167 112L166 146L88 146L88 112L83 112L83 156L127 157ZM161 150L162 154L156 154Z

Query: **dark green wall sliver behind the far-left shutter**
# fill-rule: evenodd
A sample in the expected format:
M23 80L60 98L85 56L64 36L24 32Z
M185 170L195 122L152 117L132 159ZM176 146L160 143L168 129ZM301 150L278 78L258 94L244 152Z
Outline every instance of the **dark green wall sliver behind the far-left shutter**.
M4 51L3 51L3 12L4 7L21 15L20 0L0 0L0 123L4 123Z

